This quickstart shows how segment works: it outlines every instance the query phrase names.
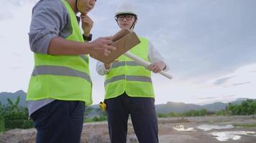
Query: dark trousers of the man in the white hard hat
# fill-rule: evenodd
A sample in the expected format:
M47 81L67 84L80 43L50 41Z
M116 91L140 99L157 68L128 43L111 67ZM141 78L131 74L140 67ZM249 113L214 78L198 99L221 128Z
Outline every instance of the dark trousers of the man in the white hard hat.
M140 143L157 143L158 128L155 99L128 97L126 93L106 99L106 114L111 143L127 142L127 121L131 115L134 132Z

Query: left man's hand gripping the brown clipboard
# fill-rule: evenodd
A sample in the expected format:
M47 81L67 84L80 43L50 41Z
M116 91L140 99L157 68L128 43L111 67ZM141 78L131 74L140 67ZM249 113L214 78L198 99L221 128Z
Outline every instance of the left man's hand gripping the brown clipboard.
M88 44L88 53L91 55L104 54L104 56L108 56L111 51L116 50L116 47L112 46L111 36L100 37L86 44Z

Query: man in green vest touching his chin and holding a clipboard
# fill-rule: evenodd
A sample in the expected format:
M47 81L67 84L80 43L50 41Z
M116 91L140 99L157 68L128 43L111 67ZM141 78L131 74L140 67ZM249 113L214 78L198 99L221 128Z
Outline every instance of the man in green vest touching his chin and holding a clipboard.
M92 103L88 54L107 56L116 49L110 37L91 41L87 13L95 2L41 0L33 7L29 44L35 67L27 101L37 142L80 142L85 104Z

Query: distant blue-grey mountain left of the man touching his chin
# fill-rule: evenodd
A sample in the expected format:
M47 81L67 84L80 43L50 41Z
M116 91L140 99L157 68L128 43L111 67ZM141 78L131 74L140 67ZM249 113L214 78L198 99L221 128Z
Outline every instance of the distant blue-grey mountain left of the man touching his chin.
M22 107L27 107L27 103L26 103L26 93L23 92L22 90L19 90L17 92L1 92L0 93L0 102L1 104L8 104L7 99L11 99L12 102L15 101L17 99L17 97L20 97L19 100L19 105Z

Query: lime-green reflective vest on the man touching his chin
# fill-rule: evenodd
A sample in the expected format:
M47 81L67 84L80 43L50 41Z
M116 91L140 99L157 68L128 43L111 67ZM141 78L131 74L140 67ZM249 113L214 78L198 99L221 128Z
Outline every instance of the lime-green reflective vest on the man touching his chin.
M68 2L63 0L68 10L72 34L71 41L83 41L76 14ZM88 55L52 56L35 53L35 68L29 81L27 100L59 99L83 101L92 104L91 77Z

